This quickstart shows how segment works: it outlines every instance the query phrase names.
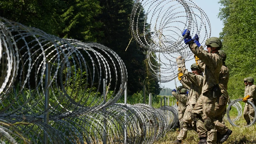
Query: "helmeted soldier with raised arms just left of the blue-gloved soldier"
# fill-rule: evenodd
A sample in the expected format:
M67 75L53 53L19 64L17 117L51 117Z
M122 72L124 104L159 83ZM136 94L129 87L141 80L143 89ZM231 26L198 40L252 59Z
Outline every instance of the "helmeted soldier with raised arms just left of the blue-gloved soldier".
M202 86L203 86L203 80L204 77L202 76L202 71L199 69L199 67L196 65L196 63L191 65L192 72L188 72L188 70L185 67L185 64L182 62L181 57L177 58L177 64L178 68L180 68L182 77L180 77L181 81L183 81L185 84L187 84L190 87L189 93L188 93L188 101L187 101L187 108L184 112L183 116L183 128L180 130L179 135L177 136L177 140L173 141L172 143L181 143L181 140L184 140L187 138L187 132L188 132L188 125L192 124L193 120L191 118L191 112L194 108L194 105L196 104L196 101L199 97L199 95L202 92ZM195 125L194 123L192 125ZM205 137L203 135L202 137Z

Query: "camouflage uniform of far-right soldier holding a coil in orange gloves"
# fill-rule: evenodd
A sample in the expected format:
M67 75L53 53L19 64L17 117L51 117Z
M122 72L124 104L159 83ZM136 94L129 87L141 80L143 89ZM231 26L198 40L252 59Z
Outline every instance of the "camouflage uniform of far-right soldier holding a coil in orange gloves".
M256 88L256 86L254 84L252 84L252 85L248 84L245 87L244 97L249 95L250 98L248 100L250 100L252 103L254 103L254 101L256 101L255 88ZM245 103L245 106L244 106L244 119L246 120L246 122L248 124L254 120L254 109L248 103Z

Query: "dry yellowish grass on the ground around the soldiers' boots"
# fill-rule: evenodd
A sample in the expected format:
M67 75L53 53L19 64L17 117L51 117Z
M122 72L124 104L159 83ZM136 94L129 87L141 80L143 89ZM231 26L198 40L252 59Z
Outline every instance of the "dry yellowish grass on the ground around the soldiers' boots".
M241 119L238 123L245 123L245 121ZM256 143L256 124L250 127L234 127L229 124L228 120L225 119L225 124L229 129L233 132L228 137L223 144L255 144ZM244 124L245 125L245 124ZM176 137L179 133L179 128L176 128L175 131L168 132L165 137L160 138L158 141L154 142L154 144L170 144L172 141L176 140ZM197 133L194 130L188 130L188 137L186 140L182 142L182 144L197 144L199 141L197 137Z

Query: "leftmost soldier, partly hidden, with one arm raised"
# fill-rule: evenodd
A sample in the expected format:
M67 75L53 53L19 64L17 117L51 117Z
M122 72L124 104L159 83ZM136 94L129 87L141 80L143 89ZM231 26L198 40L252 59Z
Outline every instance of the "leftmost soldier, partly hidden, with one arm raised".
M178 113L179 113L179 122L180 122L180 130L182 130L183 126L183 116L186 110L186 103L188 100L188 94L186 88L179 89L180 94L176 93L176 90L172 90L172 95L178 100ZM181 140L177 140L178 143L181 143Z

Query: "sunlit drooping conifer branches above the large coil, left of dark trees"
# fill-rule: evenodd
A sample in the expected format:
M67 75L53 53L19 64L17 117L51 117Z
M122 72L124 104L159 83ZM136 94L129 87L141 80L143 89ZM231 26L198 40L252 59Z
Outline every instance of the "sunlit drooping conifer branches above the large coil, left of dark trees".
M62 11L64 13L60 17L65 28L61 37L95 42L102 35L92 30L102 26L100 21L94 19L101 12L99 1L69 0Z

